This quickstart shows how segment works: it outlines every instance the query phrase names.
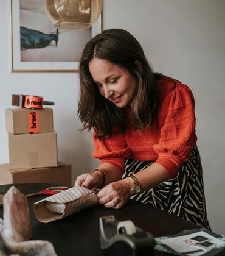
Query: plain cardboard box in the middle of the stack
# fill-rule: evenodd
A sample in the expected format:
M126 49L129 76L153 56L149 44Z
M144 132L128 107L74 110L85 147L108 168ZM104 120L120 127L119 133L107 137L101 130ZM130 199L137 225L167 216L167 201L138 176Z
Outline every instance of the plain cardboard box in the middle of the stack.
M10 169L57 166L57 133L9 135Z

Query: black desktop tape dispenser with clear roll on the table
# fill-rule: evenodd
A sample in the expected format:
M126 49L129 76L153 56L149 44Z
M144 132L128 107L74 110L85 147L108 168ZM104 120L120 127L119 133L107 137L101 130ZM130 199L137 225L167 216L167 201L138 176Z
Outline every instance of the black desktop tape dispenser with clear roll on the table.
M100 247L108 256L154 255L154 237L130 220L117 221L114 215L99 218Z

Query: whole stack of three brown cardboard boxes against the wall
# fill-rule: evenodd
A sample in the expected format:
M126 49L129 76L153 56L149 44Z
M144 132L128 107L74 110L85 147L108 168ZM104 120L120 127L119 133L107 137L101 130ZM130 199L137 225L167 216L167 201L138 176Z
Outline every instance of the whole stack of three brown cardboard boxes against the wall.
M9 164L0 165L0 183L71 185L71 165L57 160L52 108L7 109L5 114Z

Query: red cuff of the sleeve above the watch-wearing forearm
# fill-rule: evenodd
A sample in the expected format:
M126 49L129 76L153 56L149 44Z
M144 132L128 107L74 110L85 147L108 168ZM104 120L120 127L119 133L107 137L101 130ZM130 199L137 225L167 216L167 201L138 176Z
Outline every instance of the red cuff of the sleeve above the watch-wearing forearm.
M164 166L167 170L169 179L176 175L179 168L185 161L176 155L160 154L156 160L156 163Z

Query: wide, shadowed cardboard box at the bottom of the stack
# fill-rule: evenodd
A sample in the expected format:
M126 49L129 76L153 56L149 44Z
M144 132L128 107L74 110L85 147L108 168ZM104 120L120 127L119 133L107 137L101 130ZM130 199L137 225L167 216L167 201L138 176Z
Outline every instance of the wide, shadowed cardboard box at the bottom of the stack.
M0 165L0 185L11 183L55 183L71 186L71 165L58 162L58 167L10 169Z

